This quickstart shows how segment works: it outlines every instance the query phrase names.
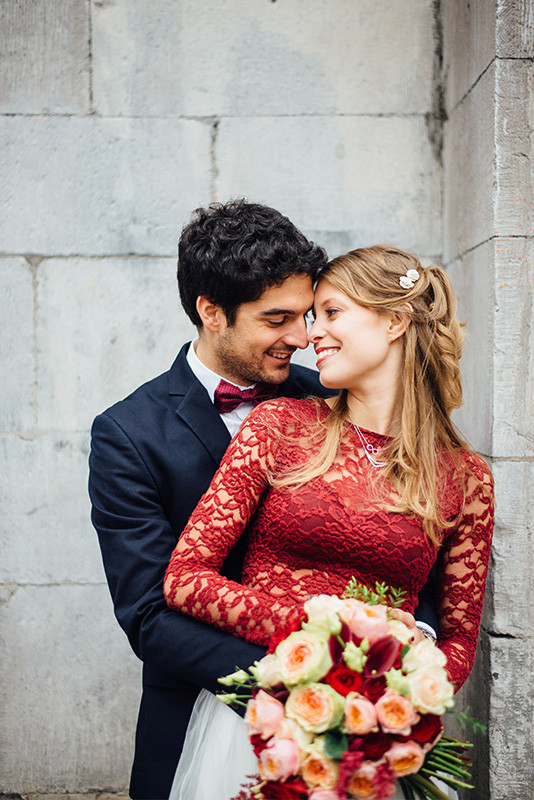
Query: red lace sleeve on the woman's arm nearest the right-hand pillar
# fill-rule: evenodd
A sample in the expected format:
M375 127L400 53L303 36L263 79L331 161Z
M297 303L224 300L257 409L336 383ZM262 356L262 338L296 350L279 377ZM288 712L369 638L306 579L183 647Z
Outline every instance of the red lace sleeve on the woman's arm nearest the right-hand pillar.
M466 496L455 530L439 556L438 644L456 691L475 658L493 534L493 478L486 463L468 458Z

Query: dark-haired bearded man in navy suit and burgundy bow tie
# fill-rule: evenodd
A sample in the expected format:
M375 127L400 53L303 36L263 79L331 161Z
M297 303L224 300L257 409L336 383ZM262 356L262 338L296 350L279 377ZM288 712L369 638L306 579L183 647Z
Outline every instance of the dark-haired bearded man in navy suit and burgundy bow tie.
M324 251L274 209L244 201L198 209L178 252L180 297L198 340L94 422L93 524L117 619L144 664L132 798L168 796L199 689L215 691L220 675L264 654L168 609L162 582L253 404L276 393L325 394L314 372L290 366L308 344L305 314L325 263ZM224 574L239 580L245 547Z

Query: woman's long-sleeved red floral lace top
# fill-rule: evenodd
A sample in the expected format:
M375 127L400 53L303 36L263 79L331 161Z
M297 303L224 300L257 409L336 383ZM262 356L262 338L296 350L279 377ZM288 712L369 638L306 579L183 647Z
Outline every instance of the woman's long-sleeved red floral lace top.
M373 499L373 467L346 425L328 473L300 487L273 489L269 473L309 456L310 426L324 401L262 403L247 417L180 537L165 577L169 605L224 630L268 644L275 628L313 594L341 593L351 577L404 589L413 612L438 557L439 647L459 688L475 655L493 527L493 482L486 463L466 452L463 478L443 491L453 528L434 547L421 521L385 511ZM387 438L365 431L378 448ZM463 484L466 485L465 502ZM376 493L375 493L376 495ZM463 507L462 507L463 506ZM219 569L248 528L243 585Z

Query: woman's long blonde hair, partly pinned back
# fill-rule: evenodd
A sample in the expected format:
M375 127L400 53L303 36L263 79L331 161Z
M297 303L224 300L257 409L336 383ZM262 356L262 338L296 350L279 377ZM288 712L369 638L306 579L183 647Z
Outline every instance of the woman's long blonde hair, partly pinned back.
M410 269L419 278L411 288L403 288L399 278ZM380 473L393 487L387 507L419 515L435 543L435 528L451 524L443 515L439 486L444 471L460 465L458 450L467 447L450 419L453 409L462 404L459 359L463 345L451 281L441 267L423 269L415 256L390 245L338 256L320 279L330 281L361 306L410 318L403 334L400 425ZM273 477L273 485L301 484L324 475L334 462L348 417L347 391L343 390L324 427L310 442L312 447L319 445L316 454L304 467Z

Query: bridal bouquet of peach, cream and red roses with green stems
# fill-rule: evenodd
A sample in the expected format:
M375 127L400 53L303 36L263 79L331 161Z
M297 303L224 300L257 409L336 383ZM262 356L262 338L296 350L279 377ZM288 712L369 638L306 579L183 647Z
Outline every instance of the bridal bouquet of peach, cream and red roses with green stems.
M312 597L268 655L220 679L233 692L219 697L246 705L258 759L260 782L239 798L385 800L399 784L407 800L448 800L434 778L469 787L469 744L443 735L445 656L428 639L411 646L384 602L402 601L382 584Z

